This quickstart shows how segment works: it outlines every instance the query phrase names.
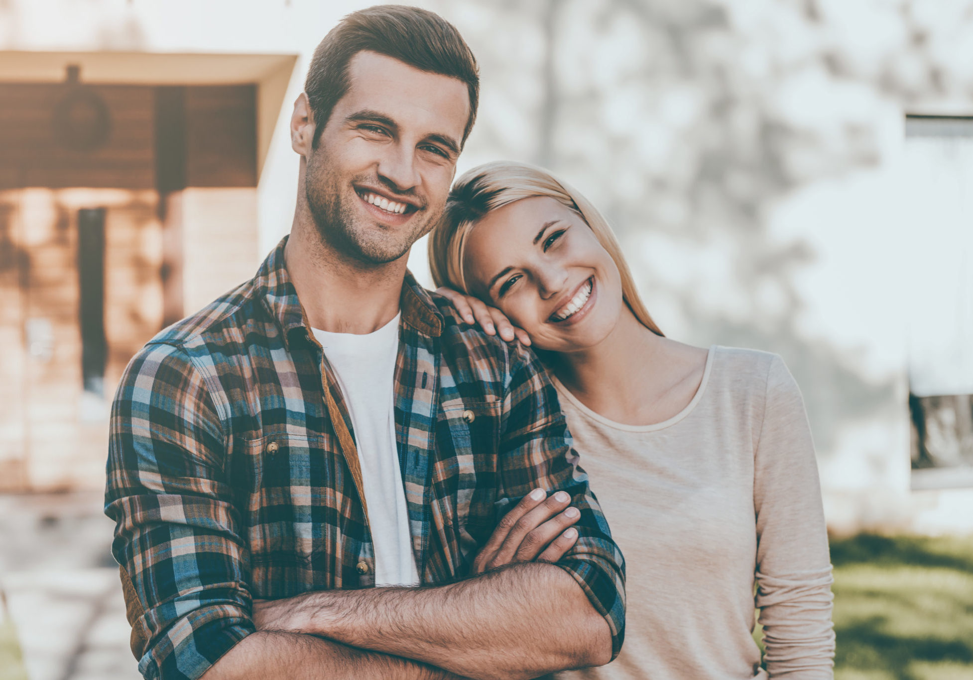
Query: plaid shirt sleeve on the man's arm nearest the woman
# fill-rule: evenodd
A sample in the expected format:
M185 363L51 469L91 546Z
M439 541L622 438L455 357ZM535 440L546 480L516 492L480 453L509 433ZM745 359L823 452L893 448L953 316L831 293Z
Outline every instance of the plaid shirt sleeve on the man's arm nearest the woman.
M533 353L511 348L500 442L501 501L509 509L532 490L564 491L581 511L578 540L558 562L611 630L612 659L625 639L625 559L611 537L588 475L579 466L558 393Z

